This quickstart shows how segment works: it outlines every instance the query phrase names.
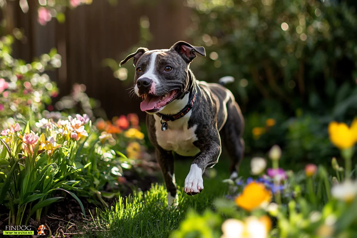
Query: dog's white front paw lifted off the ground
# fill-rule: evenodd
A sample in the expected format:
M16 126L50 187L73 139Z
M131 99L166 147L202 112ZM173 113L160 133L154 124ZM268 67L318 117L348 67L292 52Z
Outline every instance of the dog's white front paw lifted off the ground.
M197 164L192 164L190 172L185 179L184 192L188 195L195 195L200 193L203 189L202 169Z

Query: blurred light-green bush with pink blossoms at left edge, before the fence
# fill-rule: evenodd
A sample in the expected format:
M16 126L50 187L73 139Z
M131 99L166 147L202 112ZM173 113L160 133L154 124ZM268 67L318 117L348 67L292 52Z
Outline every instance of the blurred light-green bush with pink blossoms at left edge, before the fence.
M36 120L45 104L51 103L51 97L57 96L56 84L50 81L45 70L61 66L61 56L52 49L31 64L11 56L12 36L0 39L0 124L6 125L7 117L21 120L23 117ZM35 116L35 117L34 117ZM24 123L26 123L24 121Z

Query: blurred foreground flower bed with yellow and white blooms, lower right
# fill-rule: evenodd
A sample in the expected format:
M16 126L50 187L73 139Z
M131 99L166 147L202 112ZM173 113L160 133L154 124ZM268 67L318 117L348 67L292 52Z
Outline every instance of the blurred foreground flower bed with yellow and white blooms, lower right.
M351 158L356 129L357 120L351 127L337 122L329 125L330 139L345 159L345 169L332 159L336 177L315 164L307 164L297 173L284 171L278 164L281 149L273 146L269 152L272 168L265 173L265 159L253 158L255 178L226 179L231 194L216 200L216 214L191 214L171 237L355 237L357 180L353 179L357 171L351 172ZM197 231L196 224L188 222L191 217L200 220L205 229ZM221 227L212 225L222 218Z

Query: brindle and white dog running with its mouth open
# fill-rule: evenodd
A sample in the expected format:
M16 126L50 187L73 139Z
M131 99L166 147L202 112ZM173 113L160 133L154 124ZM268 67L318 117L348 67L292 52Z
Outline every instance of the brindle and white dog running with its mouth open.
M142 97L141 111L147 113L149 139L156 148L169 206L177 206L173 151L194 156L185 179L188 195L203 189L202 174L214 166L221 154L221 142L231 158L231 178L237 177L243 158L244 120L231 91L218 83L196 80L190 63L205 48L179 41L170 49L148 50L140 47L120 66L134 58L134 91Z

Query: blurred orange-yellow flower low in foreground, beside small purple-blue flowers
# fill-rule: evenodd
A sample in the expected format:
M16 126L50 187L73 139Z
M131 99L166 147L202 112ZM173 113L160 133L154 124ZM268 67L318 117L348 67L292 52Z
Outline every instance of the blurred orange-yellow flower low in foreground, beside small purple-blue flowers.
M237 206L252 211L270 202L271 192L268 191L263 183L251 182L243 192L235 199Z

